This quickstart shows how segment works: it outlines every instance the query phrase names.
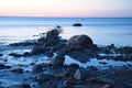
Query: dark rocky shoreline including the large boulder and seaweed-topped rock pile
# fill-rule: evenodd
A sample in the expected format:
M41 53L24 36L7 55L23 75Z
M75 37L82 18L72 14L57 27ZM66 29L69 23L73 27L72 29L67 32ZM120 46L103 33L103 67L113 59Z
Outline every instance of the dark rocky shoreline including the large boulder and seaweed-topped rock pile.
M13 67L7 63L11 59L4 59L0 63L0 76L9 77L9 79L19 78L22 84L12 84L10 86L2 85L0 79L0 88L131 88L132 87L132 47L120 46L114 44L108 46L98 46L87 35L75 35L72 38L64 40L59 36L62 28L56 26L47 33L42 33L41 37L34 42L22 42L10 44L8 48L30 47L31 51L21 54L10 52L8 55L20 59L34 59L35 56L47 56L47 63L41 62L41 58L31 62L26 67L31 70L23 69L22 65ZM7 48L6 48L7 50ZM0 53L0 58L6 56ZM125 66L111 67L101 69L96 66L87 66L86 68L78 64L66 65L66 56L85 64L90 59L112 59L121 62L131 62ZM34 58L32 58L34 57ZM2 59L1 59L2 61ZM106 65L107 62L99 62ZM13 77L8 76L12 74ZM3 78L4 79L4 78ZM14 79L16 80L16 79Z

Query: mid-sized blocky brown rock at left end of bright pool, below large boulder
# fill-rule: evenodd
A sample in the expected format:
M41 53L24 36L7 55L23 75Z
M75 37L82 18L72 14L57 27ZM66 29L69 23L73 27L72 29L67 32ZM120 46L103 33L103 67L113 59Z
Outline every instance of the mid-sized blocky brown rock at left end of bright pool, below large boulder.
M53 66L64 66L64 63L65 63L65 57L64 56L54 56L51 61L51 65Z

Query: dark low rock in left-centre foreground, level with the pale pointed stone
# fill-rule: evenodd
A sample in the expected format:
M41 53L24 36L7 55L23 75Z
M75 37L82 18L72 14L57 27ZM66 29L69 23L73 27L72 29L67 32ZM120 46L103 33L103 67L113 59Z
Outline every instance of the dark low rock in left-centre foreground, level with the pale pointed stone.
M36 76L36 80L38 84L46 82L46 81L51 80L52 78L53 78L53 76L50 74L40 74Z

